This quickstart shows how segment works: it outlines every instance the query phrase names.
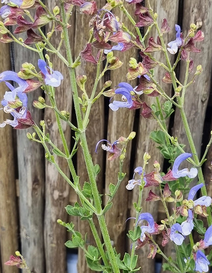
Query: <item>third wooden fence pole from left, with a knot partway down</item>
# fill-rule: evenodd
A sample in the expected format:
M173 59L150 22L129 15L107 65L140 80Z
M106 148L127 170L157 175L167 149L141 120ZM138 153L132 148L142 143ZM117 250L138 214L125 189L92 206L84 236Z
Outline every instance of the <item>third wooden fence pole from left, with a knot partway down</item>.
M47 1L48 8L52 10L58 1ZM70 23L72 24L72 23ZM47 32L50 30L50 24L46 26ZM70 32L70 42L73 42L73 32ZM51 44L56 48L61 40L61 32L55 32L51 39ZM66 58L66 51L62 46L60 52ZM56 100L59 111L65 110L71 114L72 95L70 88L70 78L68 68L61 62L56 54L49 54L50 61L53 63L53 69L63 74L64 79L60 87L56 88ZM71 115L70 115L71 119ZM62 142L58 132L58 126L55 114L51 109L45 109L44 120L46 128L49 131L51 141L63 151ZM70 127L62 121L62 128L68 146L70 146ZM56 160L62 171L69 177L70 171L65 159L56 156ZM58 225L57 219L67 221L68 216L65 206L69 203L70 186L57 172L56 168L48 161L45 163L45 213L44 213L44 240L45 240L45 258L46 273L66 272L66 242L67 231L64 227Z

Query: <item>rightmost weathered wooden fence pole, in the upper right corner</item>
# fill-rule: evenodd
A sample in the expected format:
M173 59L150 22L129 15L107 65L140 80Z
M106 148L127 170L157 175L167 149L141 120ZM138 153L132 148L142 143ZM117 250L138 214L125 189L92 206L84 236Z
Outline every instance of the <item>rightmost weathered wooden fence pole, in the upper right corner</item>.
M211 23L211 3L203 3L202 1L185 1L183 6L183 34L187 34L190 24L197 24L198 28L204 32L204 41L196 43L196 47L201 49L200 53L191 53L190 57L194 60L194 72L197 65L201 64L203 73L195 79L195 84L187 89L184 109L187 114L191 133L197 149L197 154L200 154L202 130L204 124L205 110L209 96L209 88L211 82L211 48L210 41L212 39L212 23ZM180 66L180 81L183 83L185 62L181 61ZM192 75L190 75L191 78ZM178 137L179 142L186 144L185 150L191 152L184 128L181 123L180 114L175 113L175 121L173 135Z

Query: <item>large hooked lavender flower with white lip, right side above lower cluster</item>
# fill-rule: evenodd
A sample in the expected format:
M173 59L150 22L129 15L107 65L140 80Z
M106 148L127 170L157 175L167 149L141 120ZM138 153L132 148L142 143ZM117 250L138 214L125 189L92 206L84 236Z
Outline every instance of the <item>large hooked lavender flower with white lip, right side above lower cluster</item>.
M189 178L194 178L197 176L198 171L196 168L191 168L190 171L188 168L178 170L181 162L191 156L192 156L191 153L182 153L179 156L177 156L177 158L174 161L173 168L172 168L172 175L174 178L179 178L179 177L184 177L184 176L188 176Z

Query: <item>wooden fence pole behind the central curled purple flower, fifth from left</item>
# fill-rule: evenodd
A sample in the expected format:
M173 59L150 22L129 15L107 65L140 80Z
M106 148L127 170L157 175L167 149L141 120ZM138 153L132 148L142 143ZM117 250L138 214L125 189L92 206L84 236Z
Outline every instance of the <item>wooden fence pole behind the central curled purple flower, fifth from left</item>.
M128 5L125 3L127 11L134 16L134 5ZM118 9L114 9L114 15L118 16L120 22L124 22L130 31L135 32L133 26L127 21L126 16ZM111 70L110 79L112 80L112 88L118 86L121 82L126 82L126 73L128 68L128 62L130 57L137 58L138 50L131 48L125 52L114 51L114 56L119 57L119 60L123 63L117 70ZM136 86L136 81L129 81L129 84L133 87ZM121 98L114 98L120 100ZM108 105L109 107L109 100ZM108 120L108 137L107 140L113 143L120 137L128 137L129 133L133 131L135 111L127 108L119 108L118 111L113 112L109 108L109 120ZM134 141L134 140L133 140ZM116 196L113 199L113 208L105 214L105 219L108 225L111 240L114 243L118 253L123 256L126 248L126 219L128 217L127 202L130 198L130 193L126 190L125 185L129 179L129 167L130 167L130 154L131 154L131 142L127 145L126 157L124 159L123 173L126 173L125 179L121 182ZM116 184L119 172L119 159L113 161L107 160L105 169L105 193L110 193L110 183ZM107 198L105 199L105 202Z

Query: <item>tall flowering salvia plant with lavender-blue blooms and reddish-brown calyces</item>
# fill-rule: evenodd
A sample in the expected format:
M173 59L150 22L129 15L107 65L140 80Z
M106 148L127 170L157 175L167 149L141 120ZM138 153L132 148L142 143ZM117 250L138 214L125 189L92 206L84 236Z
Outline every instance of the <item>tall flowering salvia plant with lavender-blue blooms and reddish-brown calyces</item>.
M211 198L207 196L201 167L206 159L211 140L203 157L199 159L184 111L187 88L197 80L197 76L202 72L201 65L194 68L190 54L191 52L200 52L196 44L203 41L204 34L197 31L197 26L194 23L191 23L188 33L183 33L178 24L175 25L175 30L171 30L166 19L161 25L158 25L157 14L150 6L151 1L146 1L145 6L142 0L126 0L126 2L128 2L127 6L133 5L135 7L136 21L128 13L127 6L123 5L120 0L108 0L108 3L101 8L97 6L95 1L60 0L58 6L53 10L48 9L40 0L2 0L4 5L0 9L3 19L0 21L1 42L15 42L26 49L37 52L38 61L33 64L23 63L18 73L4 71L0 74L0 81L4 81L8 90L1 100L1 110L8 114L8 119L1 121L0 127L8 125L15 129L32 127L34 132L28 132L26 137L43 146L46 159L55 166L64 180L75 190L79 202L76 202L74 206L68 205L66 211L68 214L76 215L81 217L82 221L88 222L96 244L87 247L86 238L75 229L73 223L58 220L58 224L64 226L71 233L71 239L66 242L66 246L81 248L85 252L88 266L91 269L103 273L139 271L142 264L137 263L137 249L148 245L149 255L147 258L154 258L156 253L161 255L164 269L179 273L207 272L211 262L211 253L207 249L212 244ZM79 56L75 59L72 57L68 36L70 28L68 22L74 8L90 18L89 40L85 42L85 47L81 49ZM135 32L127 29L127 26L113 12L114 8L119 8L123 12L135 28ZM42 27L47 24L51 25L52 29L45 35ZM8 26L15 26L15 28L11 31L12 28L8 28ZM141 35L140 32L142 27L146 27L147 30L144 35ZM155 28L157 32L156 40L153 37L149 38L148 34L152 28ZM61 32L61 43L58 48L51 44L51 39L56 31ZM167 40L166 34L168 32L173 34L172 41ZM17 37L19 33L26 33L25 40ZM65 46L66 55L60 51L62 46ZM137 62L135 58L129 59L125 81L112 83L108 80L101 86L100 80L105 72L115 69L118 71L122 65L121 60L116 57L116 52L123 52L130 48L139 51L141 61ZM155 59L155 51L163 52L164 59ZM67 79L63 77L63 71L54 70L54 64L50 62L50 58L46 54L48 52L55 53L69 70L76 124L70 121L68 111L61 110L57 106L55 96L57 88L61 81ZM173 54L176 57L174 64L170 61ZM81 65L81 59L96 66L96 72L93 75L94 86L89 95L86 86L86 81L89 79L86 75L79 75L75 71L75 68ZM179 81L175 73L180 61L186 63L184 83ZM162 81L172 86L172 96L164 91L160 79L154 75L156 66L161 66L166 70ZM192 76L189 77L189 74ZM133 79L137 79L137 86L130 84ZM111 88L111 86L115 87ZM33 115L28 110L28 93L36 92L39 87L43 90L43 96L39 96L33 105L38 111L48 107L55 113L63 144L62 150L51 141L51 132L46 132L45 121L41 120L40 124L36 124ZM126 234L126 239L128 236L131 241L130 252L125 253L123 257L112 246L105 222L105 213L115 209L113 208L113 198L121 183L123 186L124 182L122 181L125 178L122 169L127 145L135 138L136 132L133 131L125 137L118 136L114 142L96 139L96 152L98 153L102 148L107 153L107 159L118 160L120 166L117 182L110 184L108 201L102 206L102 193L98 192L96 183L100 168L93 163L86 138L91 108L95 107L96 101L101 96L110 97L108 105L110 111L119 111L119 108L135 111L141 108L143 118L149 119L149 122L156 121L158 130L152 131L150 138L158 144L164 158L170 160L171 163L167 172L162 173L160 163L155 160L152 171L147 173L146 166L151 155L146 152L143 155L141 166L135 168L134 175L125 183L126 190L137 190L139 195L137 202L132 204L135 213L126 219L126 221L133 221L134 226ZM145 102L146 96L154 97L155 102L148 105ZM189 141L188 147L178 143L177 138L170 135L167 129L166 119L174 112L173 106L179 110L181 122ZM69 149L65 139L62 129L63 122L70 126L74 132L72 150ZM79 183L80 173L76 172L73 164L78 146L81 146L83 150L89 177L89 181L86 181L83 186ZM71 179L58 165L57 156L64 157L66 160ZM190 163L190 168L183 167L186 161ZM195 183L191 185L194 178L196 178ZM141 205L143 189L150 186L146 202L162 202L166 212L166 218L160 219L157 223L148 211L142 209ZM199 190L201 190L201 197L198 198L196 194L199 193ZM101 235L97 232L97 223L94 224L94 215L97 217ZM206 221L201 221L198 218L199 215L205 217ZM193 237L194 231L198 234L195 239ZM156 241L155 234L160 234L163 238L160 245ZM196 238L198 239L196 240ZM161 245L164 247L169 241L174 244L175 259L165 255L161 249ZM16 257L12 255L6 264L25 268L30 272L26 262L17 251Z

